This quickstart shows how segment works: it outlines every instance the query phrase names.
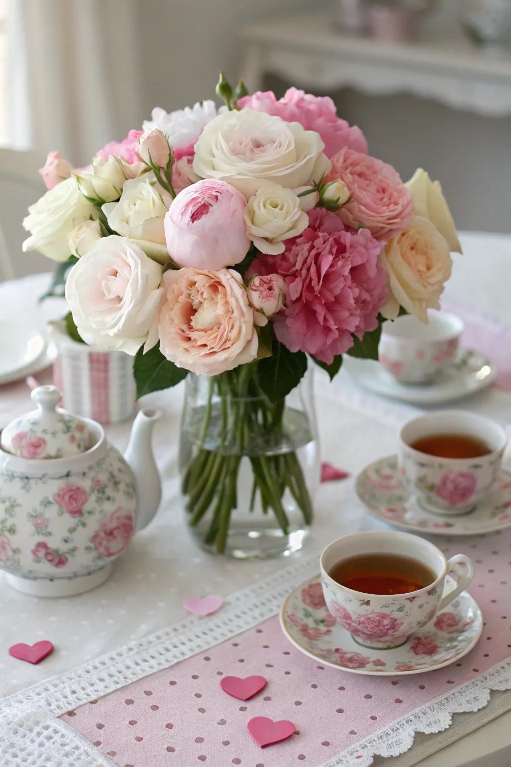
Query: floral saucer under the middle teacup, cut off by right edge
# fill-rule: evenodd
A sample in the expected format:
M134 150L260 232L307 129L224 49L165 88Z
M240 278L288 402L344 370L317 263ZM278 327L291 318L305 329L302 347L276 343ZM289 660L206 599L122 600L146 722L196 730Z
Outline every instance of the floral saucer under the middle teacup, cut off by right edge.
M397 456L366 466L356 479L355 491L373 516L404 530L455 536L511 527L511 473L505 469L500 469L493 490L468 514L444 516L422 509L405 488Z

